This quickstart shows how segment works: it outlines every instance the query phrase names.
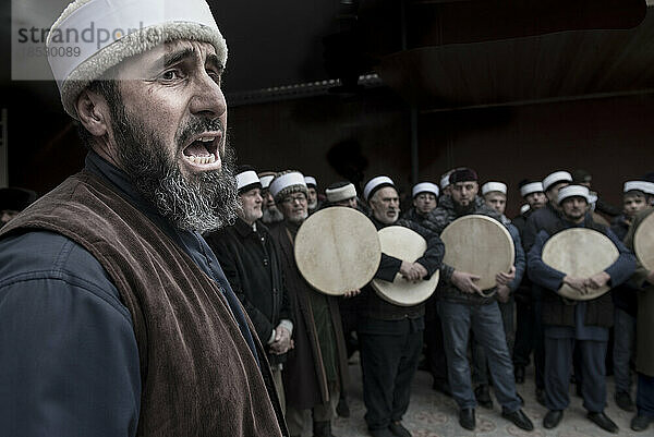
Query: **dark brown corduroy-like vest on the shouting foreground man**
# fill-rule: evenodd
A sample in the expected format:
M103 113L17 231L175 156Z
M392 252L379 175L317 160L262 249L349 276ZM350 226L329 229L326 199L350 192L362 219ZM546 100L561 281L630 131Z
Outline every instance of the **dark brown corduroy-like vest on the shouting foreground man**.
M138 436L288 434L265 352L255 339L259 369L217 282L97 177L69 178L2 234L17 229L75 241L118 288L138 345Z

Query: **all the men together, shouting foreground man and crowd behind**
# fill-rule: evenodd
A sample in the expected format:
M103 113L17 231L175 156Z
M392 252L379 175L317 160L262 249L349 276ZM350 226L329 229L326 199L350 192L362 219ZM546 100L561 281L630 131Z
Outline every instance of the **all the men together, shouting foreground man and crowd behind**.
M78 57L52 54L70 47L62 35L89 26L126 32ZM654 272L632 252L654 210L651 180L625 184L611 227L593 210L608 209L588 175L566 171L521 184L529 208L512 221L506 184L481 185L469 168L440 186L415 185L403 217L387 175L361 193L334 183L320 199L317 181L299 171L235 168L221 90L227 45L204 0L76 0L47 45L88 155L36 202L2 193L11 201L0 230L3 435L330 437L335 412L349 414L347 360L358 348L370 434L407 437L423 343L434 388L456 400L465 429L475 429L477 403L493 404L491 386L507 421L534 428L516 389L532 352L545 428L564 416L574 367L588 417L617 432L604 413L607 361L618 405L635 410L631 428L654 420ZM415 262L383 254L375 279L421 281L438 270L434 296L399 306L370 284L344 296L314 290L298 269L295 236L328 207L424 238ZM495 293L444 262L440 233L471 214L513 240L514 266L497 274ZM542 248L569 228L602 232L619 256L589 278L552 268ZM613 291L571 304L557 293L562 284Z

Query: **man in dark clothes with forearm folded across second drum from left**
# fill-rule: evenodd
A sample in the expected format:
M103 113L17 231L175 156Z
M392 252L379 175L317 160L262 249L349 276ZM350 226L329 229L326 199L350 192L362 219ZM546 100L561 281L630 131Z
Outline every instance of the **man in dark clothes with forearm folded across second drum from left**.
M392 281L397 274L413 281L429 278L440 267L445 254L438 235L412 221L398 220L399 197L390 178L373 178L364 187L364 197L377 230L403 226L427 242L424 255L414 263L382 254L375 278ZM425 304L391 304L370 284L363 289L356 331L368 430L375 437L410 437L401 422L409 408L411 381L422 351Z

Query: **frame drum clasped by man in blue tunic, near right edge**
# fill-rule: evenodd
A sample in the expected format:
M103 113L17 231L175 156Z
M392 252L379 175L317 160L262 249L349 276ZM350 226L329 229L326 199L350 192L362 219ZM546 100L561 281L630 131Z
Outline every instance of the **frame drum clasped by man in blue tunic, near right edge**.
M543 263L566 275L590 278L604 271L618 259L620 253L608 236L589 228L571 228L555 233L543 246ZM604 286L581 293L564 284L558 294L574 301L589 301L610 290Z

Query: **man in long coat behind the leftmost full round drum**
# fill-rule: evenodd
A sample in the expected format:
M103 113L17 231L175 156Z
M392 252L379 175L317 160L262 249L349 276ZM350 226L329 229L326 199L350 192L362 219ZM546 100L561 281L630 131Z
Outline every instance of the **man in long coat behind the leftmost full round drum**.
M295 348L283 371L287 423L291 436L299 436L311 427L305 423L308 416L315 437L331 437L334 410L340 391L348 386L338 298L312 288L295 263L295 236L308 217L304 177L291 170L277 173L270 182L270 194L284 218L270 229L270 234L281 248L281 267L294 324Z

